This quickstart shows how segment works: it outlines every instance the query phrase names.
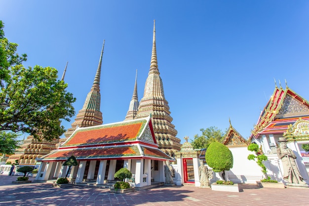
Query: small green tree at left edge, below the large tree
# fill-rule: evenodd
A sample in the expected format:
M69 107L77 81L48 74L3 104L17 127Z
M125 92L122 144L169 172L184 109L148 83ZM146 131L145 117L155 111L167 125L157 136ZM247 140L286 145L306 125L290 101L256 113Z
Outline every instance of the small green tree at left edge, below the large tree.
M17 133L0 131L0 153L13 154L15 149L19 147L18 136Z

